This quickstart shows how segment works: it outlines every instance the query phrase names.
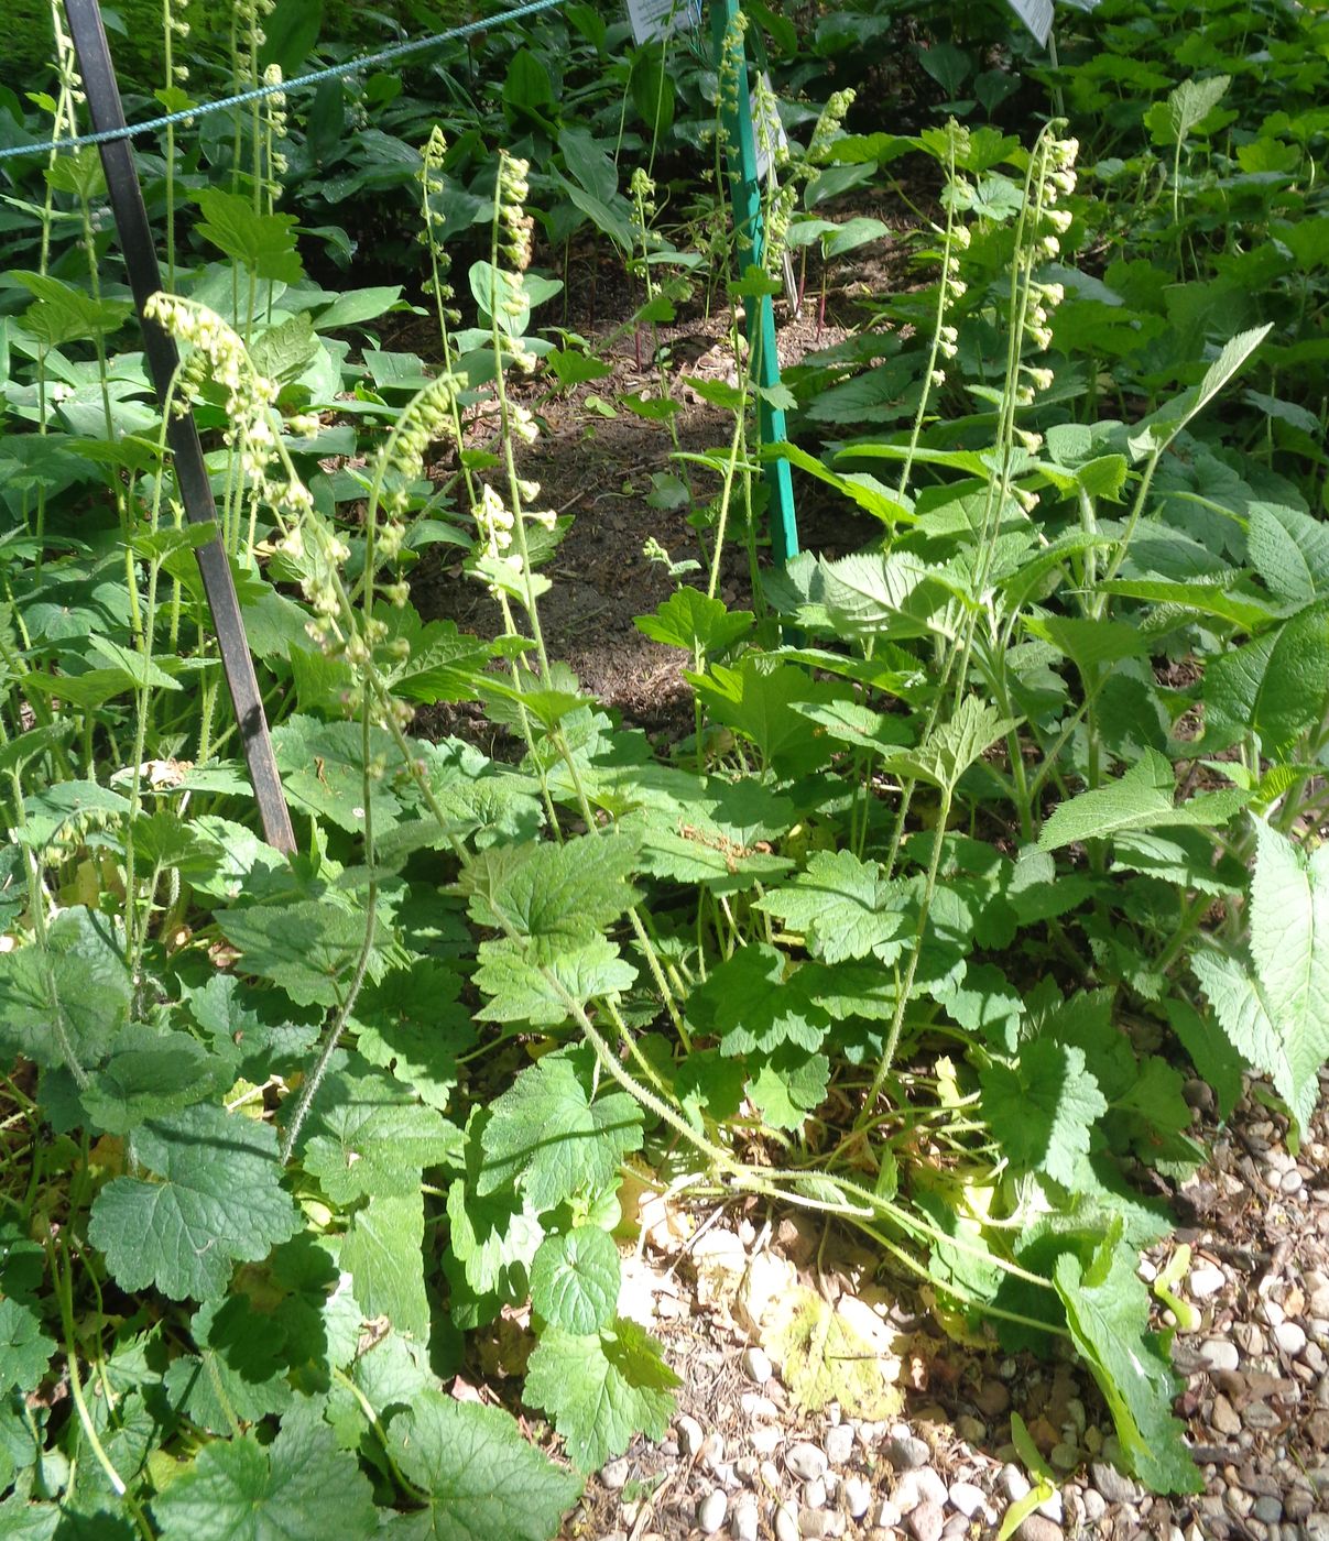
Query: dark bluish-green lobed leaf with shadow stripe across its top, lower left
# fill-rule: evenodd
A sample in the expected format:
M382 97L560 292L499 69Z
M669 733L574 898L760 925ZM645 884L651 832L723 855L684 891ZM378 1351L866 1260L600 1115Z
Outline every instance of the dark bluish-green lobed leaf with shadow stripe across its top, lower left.
M299 1230L267 1123L200 1105L136 1130L131 1151L151 1176L113 1177L88 1224L122 1290L213 1299Z

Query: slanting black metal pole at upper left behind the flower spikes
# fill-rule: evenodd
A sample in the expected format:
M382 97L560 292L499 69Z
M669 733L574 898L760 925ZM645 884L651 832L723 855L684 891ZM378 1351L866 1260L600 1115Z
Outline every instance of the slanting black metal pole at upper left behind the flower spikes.
M74 40L74 52L79 55L79 72L83 77L83 89L88 92L88 112L93 119L93 128L97 133L123 128L125 109L120 105L120 88L116 83L116 71L111 63L111 49L106 45L106 31L102 26L99 0L65 0L65 15L69 18L69 35ZM130 148L128 139L111 140L102 145L100 151L102 170L106 174L106 190L111 194L111 211L116 216L116 230L120 236L120 250L125 254L125 267L130 270L130 287L134 291L134 305L139 310L139 324L143 328L143 350L148 356L153 384L157 387L157 399L165 411L167 396L171 381L176 376L180 354L174 337L143 313L150 296L156 294L162 287L162 270L157 265L157 248L153 243L153 230L148 223L148 211L143 206L143 191L139 186L139 174L134 170L134 153ZM204 448L199 444L199 430L193 413L185 413L182 418L171 418L167 425L167 442L174 458L176 479L180 485L180 496L185 501L185 513L196 524L207 524L216 519L217 509L213 501L213 488L208 482ZM278 851L293 852L296 849L296 837L291 829L287 800L282 794L278 764L273 758L268 721L264 713L262 698L259 697L259 683L254 676L254 663L250 656L250 644L245 636L245 623L241 616L230 562L217 539L200 546L196 555L199 559L199 573L204 579L204 592L208 596L208 606L213 612L217 646L222 653L222 669L231 693L231 704L236 710L236 723L241 729L241 743L245 750L245 763L250 767L250 781L254 787L254 801L259 807L264 837Z

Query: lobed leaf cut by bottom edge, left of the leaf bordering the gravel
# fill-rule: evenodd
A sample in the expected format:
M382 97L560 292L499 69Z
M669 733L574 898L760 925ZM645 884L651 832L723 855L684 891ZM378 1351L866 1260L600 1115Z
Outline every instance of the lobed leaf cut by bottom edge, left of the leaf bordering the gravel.
M288 1415L270 1445L214 1439L153 1499L162 1541L364 1541L373 1490L331 1429Z

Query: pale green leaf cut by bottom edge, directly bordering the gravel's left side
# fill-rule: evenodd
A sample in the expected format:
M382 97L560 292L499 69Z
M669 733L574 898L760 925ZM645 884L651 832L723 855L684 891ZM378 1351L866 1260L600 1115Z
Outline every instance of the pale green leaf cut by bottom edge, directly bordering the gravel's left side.
M581 1493L581 1481L535 1450L510 1413L436 1390L418 1393L392 1419L387 1444L401 1475L429 1498L426 1512L393 1527L407 1541L547 1541Z

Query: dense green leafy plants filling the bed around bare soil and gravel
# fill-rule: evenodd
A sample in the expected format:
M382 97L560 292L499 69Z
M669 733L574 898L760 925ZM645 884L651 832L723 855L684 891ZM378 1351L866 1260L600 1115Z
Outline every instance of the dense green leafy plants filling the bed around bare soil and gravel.
M1184 1307L1135 1271L1204 1156L1183 1085L1230 1110L1252 1076L1295 1140L1329 1054L1324 35L1249 0L1058 17L1053 69L998 8L754 6L792 140L762 270L705 176L735 35L715 71L589 5L150 148L210 530L94 153L0 171L6 1535L553 1535L672 1407L618 1311L626 1170L873 1239L948 1330L1079 1355L1130 1469L1198 1486ZM202 51L165 18L139 112L344 49L310 3ZM76 122L56 34L9 143ZM908 134L846 94L880 88L865 37L908 49ZM566 522L520 450L541 393L668 436L685 378L595 394L540 324L566 254L618 251L649 348L785 251L817 304L883 237L868 199L908 211L908 282L774 404L803 493L877 535L759 572L735 322L735 382L688 382L728 436L654 481L698 539L648 541L677 590L640 627L695 701L654 746L549 658ZM339 280L359 245L398 280ZM410 305L436 342L384 347ZM211 533L293 860L254 832ZM432 547L500 636L418 613ZM416 734L466 700L513 754ZM805 1399L882 1396L846 1331L819 1361L791 1327ZM552 1445L446 1392L476 1355Z

